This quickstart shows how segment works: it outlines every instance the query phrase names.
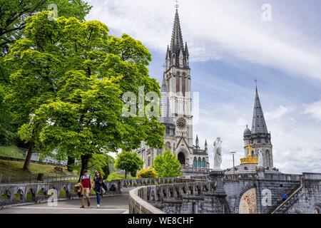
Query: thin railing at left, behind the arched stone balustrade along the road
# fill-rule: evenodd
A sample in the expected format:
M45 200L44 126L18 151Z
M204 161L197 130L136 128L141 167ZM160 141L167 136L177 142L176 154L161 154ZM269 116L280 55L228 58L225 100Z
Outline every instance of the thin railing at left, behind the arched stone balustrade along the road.
M31 183L54 183L78 180L76 175L4 175L0 174L0 185L5 184L31 184Z

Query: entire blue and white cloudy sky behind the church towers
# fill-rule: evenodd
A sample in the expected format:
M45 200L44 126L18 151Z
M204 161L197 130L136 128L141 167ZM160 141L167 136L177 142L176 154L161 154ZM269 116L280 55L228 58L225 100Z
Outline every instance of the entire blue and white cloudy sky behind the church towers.
M151 51L151 77L161 81L175 1L88 0L87 20L114 36L128 33ZM264 4L271 7L268 19ZM202 144L223 139L223 167L243 156L255 83L281 172L321 172L321 1L181 0L180 24L190 50L193 91L200 93ZM265 20L263 20L265 19Z

